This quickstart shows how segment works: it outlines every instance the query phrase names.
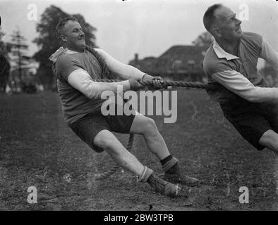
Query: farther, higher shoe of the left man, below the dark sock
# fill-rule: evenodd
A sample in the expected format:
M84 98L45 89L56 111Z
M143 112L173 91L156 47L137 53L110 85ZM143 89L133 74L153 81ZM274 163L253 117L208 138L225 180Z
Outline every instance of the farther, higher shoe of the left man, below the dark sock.
M165 172L164 180L173 184L183 184L191 187L199 186L202 183L202 181L197 178L183 174L177 163Z

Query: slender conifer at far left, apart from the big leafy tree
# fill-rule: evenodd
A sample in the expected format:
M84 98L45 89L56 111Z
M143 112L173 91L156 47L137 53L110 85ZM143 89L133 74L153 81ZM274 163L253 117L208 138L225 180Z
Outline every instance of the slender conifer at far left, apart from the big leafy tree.
M25 41L26 39L20 34L19 29L11 35L11 53L16 62L16 69L18 70L20 82L22 82L23 67L28 65L31 59L30 56L26 55L28 45L25 44Z

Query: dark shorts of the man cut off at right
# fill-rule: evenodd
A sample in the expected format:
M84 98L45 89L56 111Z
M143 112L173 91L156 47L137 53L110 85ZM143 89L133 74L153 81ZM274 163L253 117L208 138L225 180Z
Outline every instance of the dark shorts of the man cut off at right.
M258 150L265 148L259 141L270 129L278 132L278 103L250 103L241 98L238 101L220 103L224 117L234 125L243 139Z

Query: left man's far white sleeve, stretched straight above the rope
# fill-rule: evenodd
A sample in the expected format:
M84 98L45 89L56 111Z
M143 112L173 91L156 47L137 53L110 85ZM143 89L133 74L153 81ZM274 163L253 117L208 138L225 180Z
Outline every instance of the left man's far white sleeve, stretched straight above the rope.
M95 51L102 56L105 63L107 63L109 70L116 73L116 75L119 75L122 79L130 79L132 77L142 79L143 75L145 75L145 72L142 72L131 65L119 62L102 49L95 49Z

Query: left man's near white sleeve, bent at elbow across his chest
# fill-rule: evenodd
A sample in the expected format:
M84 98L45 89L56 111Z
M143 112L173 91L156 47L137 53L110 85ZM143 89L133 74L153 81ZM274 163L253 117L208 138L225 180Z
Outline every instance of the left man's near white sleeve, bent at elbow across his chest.
M113 91L114 93L117 93L117 91L119 90L117 89L118 85L122 85L123 91L127 91L128 89L130 89L128 81L112 83L94 82L87 71L81 68L71 72L71 74L68 76L68 84L71 84L73 88L82 92L85 96L87 96L87 98L90 99L101 98L103 91Z

